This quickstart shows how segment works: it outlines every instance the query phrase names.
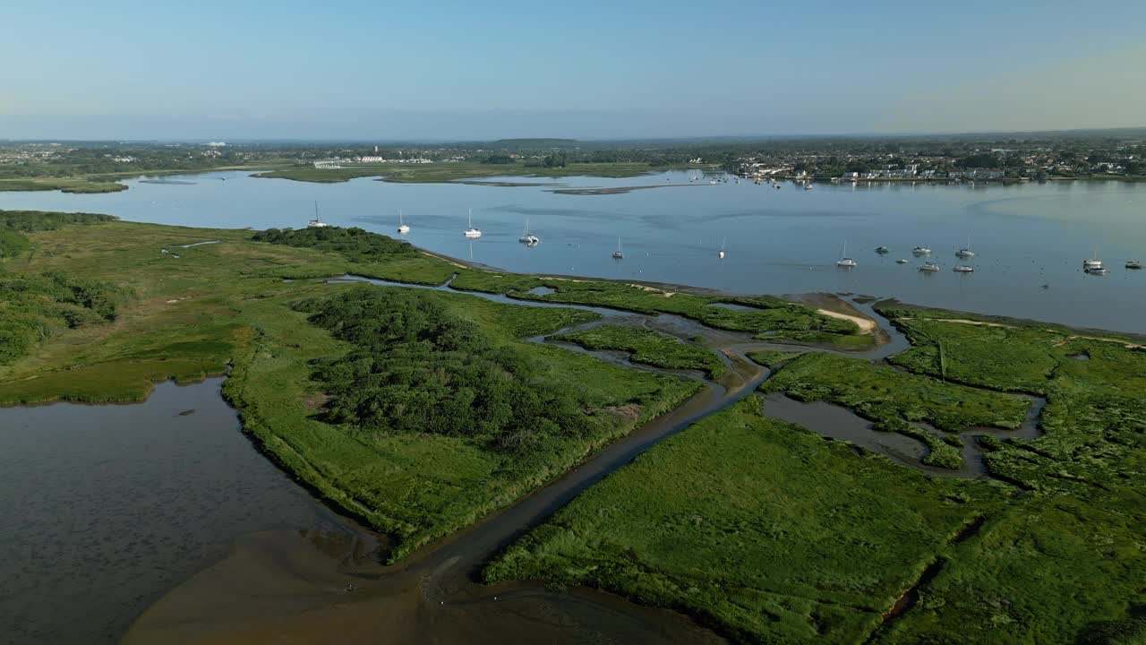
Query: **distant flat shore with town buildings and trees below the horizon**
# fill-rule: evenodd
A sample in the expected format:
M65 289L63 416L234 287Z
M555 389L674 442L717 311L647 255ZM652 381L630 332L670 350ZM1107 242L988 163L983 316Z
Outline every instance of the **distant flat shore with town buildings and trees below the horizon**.
M927 137L818 137L481 142L0 141L0 182L93 181L147 171L221 168L364 170L454 164L476 174L547 174L594 164L723 171L748 178L835 181L1146 180L1146 129ZM457 168L456 173L468 174ZM379 172L385 174L385 172ZM15 188L8 188L15 189Z

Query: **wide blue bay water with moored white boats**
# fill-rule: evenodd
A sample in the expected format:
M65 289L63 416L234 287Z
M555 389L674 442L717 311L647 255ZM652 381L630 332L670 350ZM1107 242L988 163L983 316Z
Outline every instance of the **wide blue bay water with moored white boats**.
M613 195L563 195L551 186L305 184L242 172L187 176L193 185L128 181L103 195L0 193L0 208L86 210L188 226L304 226L315 200L331 224L392 234L426 249L524 272L576 273L739 293L853 292L983 313L1146 332L1146 184L833 185L802 191L690 184L688 172L629 179L566 178L568 187L658 186ZM227 178L222 181L222 178ZM552 179L520 179L552 182ZM680 187L669 187L683 184ZM466 209L485 235L462 238ZM518 243L525 217L541 244ZM973 274L955 274L971 235ZM620 236L626 257L610 255ZM727 238L727 257L716 251ZM859 266L834 266L847 240ZM877 246L892 249L887 256ZM917 271L910 250L931 247L943 270ZM1094 246L1112 271L1088 275ZM895 259L906 258L906 265Z

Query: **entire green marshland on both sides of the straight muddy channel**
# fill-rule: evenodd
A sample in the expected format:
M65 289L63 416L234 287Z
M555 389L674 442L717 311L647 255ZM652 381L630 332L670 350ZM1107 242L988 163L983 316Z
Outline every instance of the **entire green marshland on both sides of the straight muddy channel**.
M399 285L330 280L346 274ZM727 375L712 343L586 306L743 337L769 396L916 437L941 473L975 442L989 476L770 419L745 388L525 533L487 581L604 589L746 643L1146 642L1146 351L1115 334L885 303L911 347L872 362L838 353L877 344L857 319L767 296L485 271L359 228L0 211L0 404L228 374L252 441L399 560ZM1039 433L1007 436L1033 397Z

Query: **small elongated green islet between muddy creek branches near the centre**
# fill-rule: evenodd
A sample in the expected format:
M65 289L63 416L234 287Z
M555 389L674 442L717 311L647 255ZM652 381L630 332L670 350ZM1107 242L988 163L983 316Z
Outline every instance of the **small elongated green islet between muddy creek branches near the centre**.
M552 335L548 340L576 343L591 350L627 351L634 363L667 370L699 370L711 379L724 374L724 363L712 351L652 329L602 325Z

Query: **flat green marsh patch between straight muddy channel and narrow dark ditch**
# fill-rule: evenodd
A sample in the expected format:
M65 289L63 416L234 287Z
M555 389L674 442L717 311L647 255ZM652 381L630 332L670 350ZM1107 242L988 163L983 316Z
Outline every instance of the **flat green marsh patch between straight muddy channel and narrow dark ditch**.
M1000 497L766 419L760 403L661 442L486 577L606 589L737 640L857 643L974 520L971 502Z

